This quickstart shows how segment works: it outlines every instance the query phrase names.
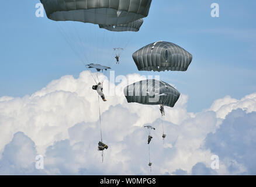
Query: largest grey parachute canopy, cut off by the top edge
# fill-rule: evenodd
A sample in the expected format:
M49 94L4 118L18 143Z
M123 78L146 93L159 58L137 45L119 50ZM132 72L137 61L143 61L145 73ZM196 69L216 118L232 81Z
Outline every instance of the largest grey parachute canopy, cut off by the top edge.
M47 17L103 25L130 23L148 15L152 0L40 0Z

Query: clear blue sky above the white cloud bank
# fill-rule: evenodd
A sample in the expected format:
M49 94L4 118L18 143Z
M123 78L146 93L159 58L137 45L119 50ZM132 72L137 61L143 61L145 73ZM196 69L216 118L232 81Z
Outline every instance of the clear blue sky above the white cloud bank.
M32 94L53 79L63 75L78 77L85 68L61 36L58 24L36 18L35 5L39 1L2 2L0 30L0 97ZM220 5L220 18L210 16L210 5ZM132 53L157 40L170 41L184 47L193 55L186 72L161 72L161 80L174 84L189 96L188 110L199 112L213 101L230 95L240 99L256 91L256 27L254 1L178 1L161 0L151 5L150 13L139 33L127 37L98 31L95 25L77 24L89 45L88 54L94 60L110 65L116 75L139 72ZM61 23L63 24L63 23ZM114 39L112 40L112 37ZM101 39L105 40L101 42ZM127 43L122 63L110 61L111 47ZM107 53L98 53L102 48ZM110 60L109 60L110 59Z

